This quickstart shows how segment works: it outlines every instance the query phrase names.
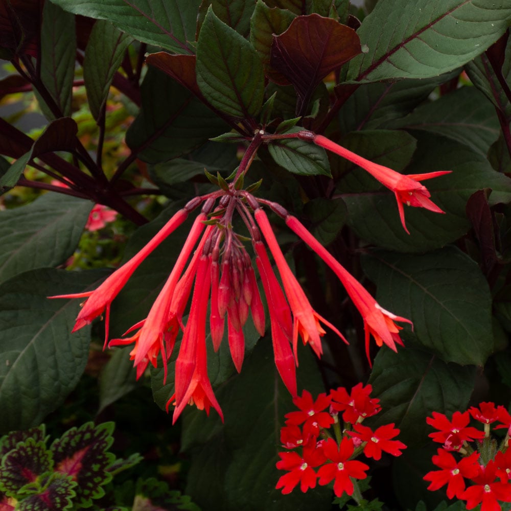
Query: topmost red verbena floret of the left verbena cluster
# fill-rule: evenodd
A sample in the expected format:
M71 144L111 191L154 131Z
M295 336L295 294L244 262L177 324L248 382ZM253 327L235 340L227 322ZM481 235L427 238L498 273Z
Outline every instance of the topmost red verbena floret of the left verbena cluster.
M357 383L350 394L344 387L331 390L332 408L343 412L342 420L344 422L350 424L362 422L366 417L376 415L381 410L381 406L378 404L380 400L369 397L372 391L371 385L364 387L362 383Z

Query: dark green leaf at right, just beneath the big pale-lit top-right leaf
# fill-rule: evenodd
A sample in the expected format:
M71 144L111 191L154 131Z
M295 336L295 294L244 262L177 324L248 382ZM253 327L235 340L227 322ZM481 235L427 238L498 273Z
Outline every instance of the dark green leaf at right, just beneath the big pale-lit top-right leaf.
M444 135L486 156L500 124L493 105L475 87L462 87L416 108L392 128L420 129Z

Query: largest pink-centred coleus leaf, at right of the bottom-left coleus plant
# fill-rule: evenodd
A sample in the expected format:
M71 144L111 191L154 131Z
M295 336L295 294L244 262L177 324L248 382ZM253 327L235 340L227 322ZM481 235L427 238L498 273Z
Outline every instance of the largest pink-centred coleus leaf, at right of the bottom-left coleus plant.
M108 467L115 456L107 452L113 443L113 422L68 429L50 449L58 472L77 482L75 505L89 507L105 495L103 485L112 479Z

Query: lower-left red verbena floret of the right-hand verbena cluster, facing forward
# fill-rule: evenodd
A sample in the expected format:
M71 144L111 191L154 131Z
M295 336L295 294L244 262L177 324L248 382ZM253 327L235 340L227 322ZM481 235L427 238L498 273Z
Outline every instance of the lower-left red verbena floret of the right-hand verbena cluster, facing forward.
M442 470L432 470L423 479L430 481L428 490L435 491L447 484L447 496L460 498L465 489L465 479L472 479L479 473L479 453L474 452L470 456L461 458L459 462L445 449L438 449L438 454L432 458L433 463Z

